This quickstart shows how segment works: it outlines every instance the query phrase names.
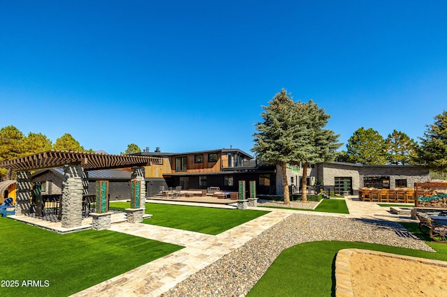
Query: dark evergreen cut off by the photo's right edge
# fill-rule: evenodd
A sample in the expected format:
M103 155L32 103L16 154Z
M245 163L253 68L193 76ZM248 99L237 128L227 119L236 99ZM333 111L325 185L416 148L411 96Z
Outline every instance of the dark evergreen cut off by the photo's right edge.
M426 127L416 147L416 162L435 172L447 172L447 112L435 116L434 123Z

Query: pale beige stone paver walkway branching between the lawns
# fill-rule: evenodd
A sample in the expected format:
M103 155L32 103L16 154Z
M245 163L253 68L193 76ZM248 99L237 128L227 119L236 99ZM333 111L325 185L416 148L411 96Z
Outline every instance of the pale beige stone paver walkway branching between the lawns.
M369 218L376 220L402 220L374 203L356 201L347 198L349 215L337 213L312 213L345 218ZM200 204L203 206L203 204ZM226 206L223 206L226 207ZM255 220L234 227L216 236L183 231L149 224L130 224L122 222L112 224L110 230L141 236L167 243L182 245L186 248L169 254L138 268L117 275L96 284L94 287L80 291L73 296L159 296L175 287L175 284L189 277L201 268L212 264L225 254L240 248L251 238L261 234L284 218L297 211L278 208L261 208L270 211ZM302 212L302 211L298 211ZM309 213L309 212L302 212Z

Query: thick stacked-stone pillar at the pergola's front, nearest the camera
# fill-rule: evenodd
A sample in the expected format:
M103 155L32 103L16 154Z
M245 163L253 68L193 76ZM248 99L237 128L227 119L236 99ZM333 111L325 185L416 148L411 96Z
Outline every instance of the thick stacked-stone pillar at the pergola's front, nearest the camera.
M64 165L61 204L61 223L64 228L82 224L82 174L82 166Z

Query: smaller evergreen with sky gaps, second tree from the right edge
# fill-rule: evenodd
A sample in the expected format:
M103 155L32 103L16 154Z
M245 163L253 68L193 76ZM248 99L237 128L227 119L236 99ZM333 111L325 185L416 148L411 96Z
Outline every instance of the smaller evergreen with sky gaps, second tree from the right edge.
M412 164L416 146L416 142L404 132L393 130L386 139L388 162L395 165Z

